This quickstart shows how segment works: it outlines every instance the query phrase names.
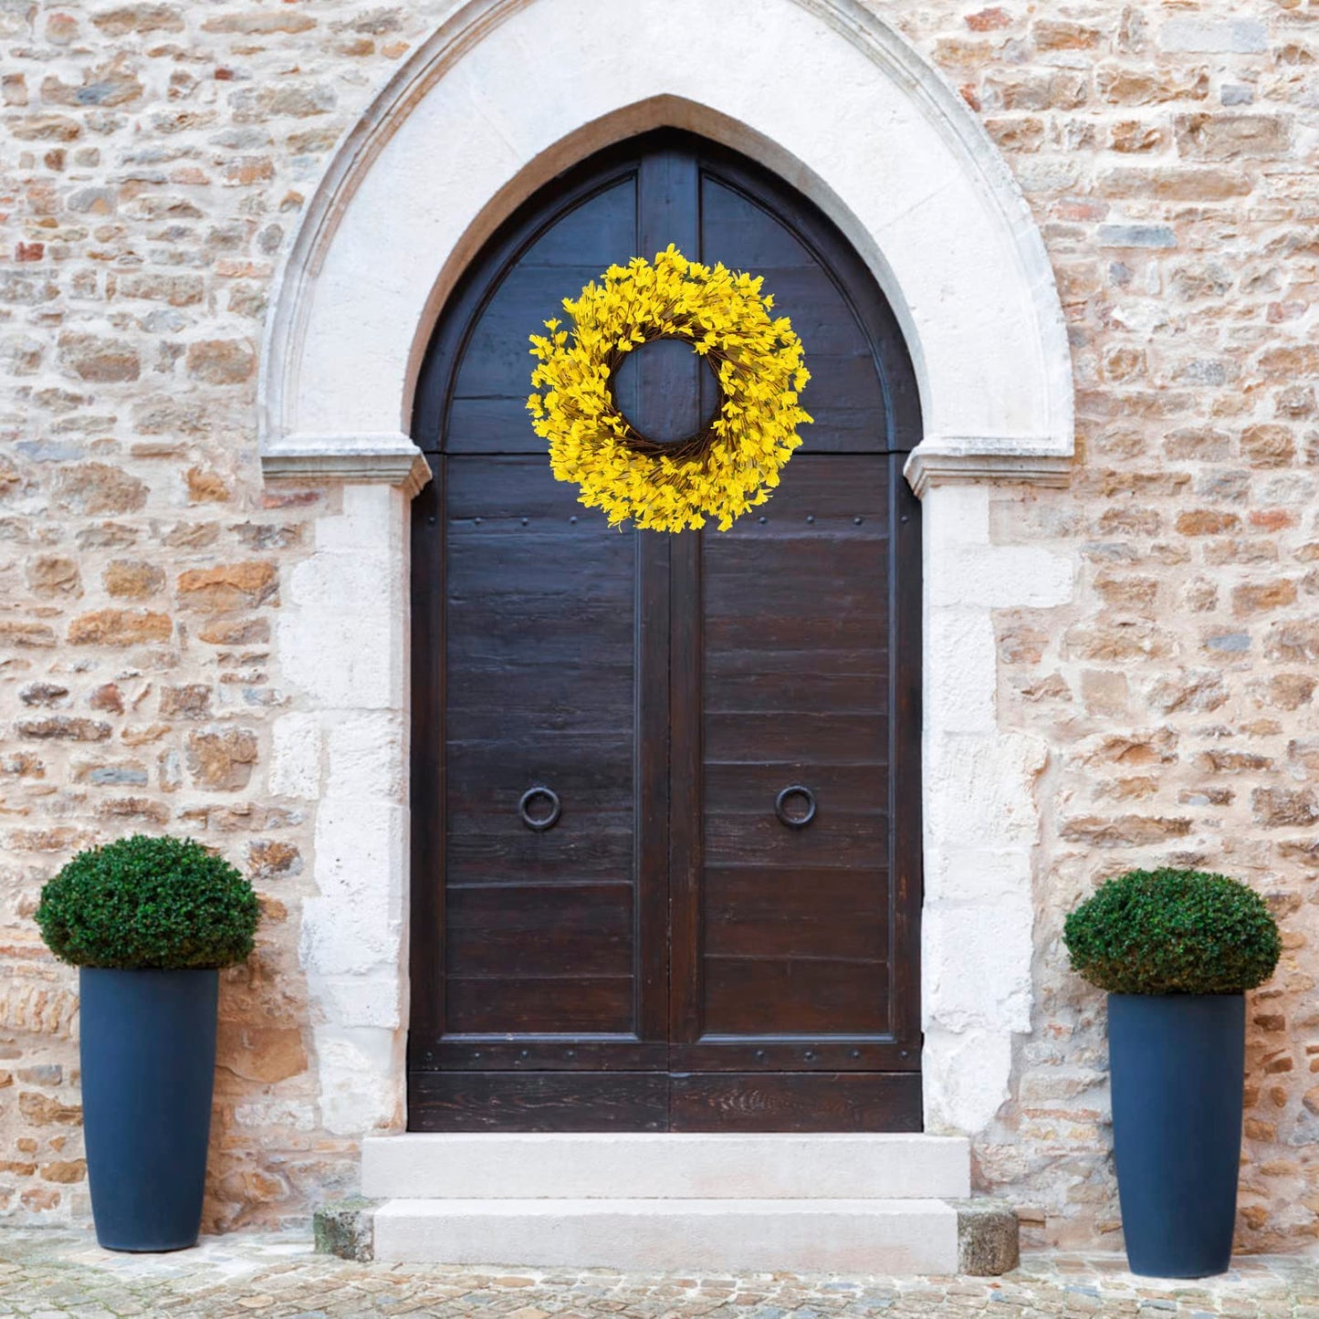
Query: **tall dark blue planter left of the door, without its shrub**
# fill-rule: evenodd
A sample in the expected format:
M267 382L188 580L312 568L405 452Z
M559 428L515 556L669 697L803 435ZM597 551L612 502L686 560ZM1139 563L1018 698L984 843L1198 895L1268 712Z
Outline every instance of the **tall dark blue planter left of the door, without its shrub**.
M197 1245L215 1080L218 971L83 967L82 1088L96 1240Z

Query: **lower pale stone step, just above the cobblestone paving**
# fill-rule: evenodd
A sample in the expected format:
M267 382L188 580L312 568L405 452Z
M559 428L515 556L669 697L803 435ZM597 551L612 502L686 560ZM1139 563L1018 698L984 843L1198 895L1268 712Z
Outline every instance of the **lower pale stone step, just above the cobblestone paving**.
M662 1272L955 1273L940 1200L389 1200L375 1254L393 1264Z

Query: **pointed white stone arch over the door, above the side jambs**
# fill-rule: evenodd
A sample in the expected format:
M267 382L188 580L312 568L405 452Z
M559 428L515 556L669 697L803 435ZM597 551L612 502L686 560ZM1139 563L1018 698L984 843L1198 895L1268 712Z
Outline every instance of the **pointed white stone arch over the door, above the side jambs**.
M307 207L265 340L268 470L368 437L398 448L438 303L480 240L558 169L660 125L774 169L871 264L921 383L919 466L1059 470L1070 357L1030 211L960 96L855 0L462 5Z

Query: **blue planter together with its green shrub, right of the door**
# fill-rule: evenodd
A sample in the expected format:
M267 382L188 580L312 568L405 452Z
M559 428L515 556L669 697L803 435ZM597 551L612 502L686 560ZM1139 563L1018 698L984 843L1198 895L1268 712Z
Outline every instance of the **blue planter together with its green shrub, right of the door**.
M1282 956L1268 904L1203 871L1129 871L1063 927L1072 969L1108 991L1113 1161L1133 1273L1232 1262L1245 991Z

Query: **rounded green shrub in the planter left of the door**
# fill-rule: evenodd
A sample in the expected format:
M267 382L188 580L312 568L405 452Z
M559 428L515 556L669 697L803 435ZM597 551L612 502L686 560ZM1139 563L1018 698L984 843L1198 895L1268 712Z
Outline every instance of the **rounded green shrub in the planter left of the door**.
M252 951L257 902L228 861L193 839L135 835L79 852L41 890L37 925L77 967L230 967Z

